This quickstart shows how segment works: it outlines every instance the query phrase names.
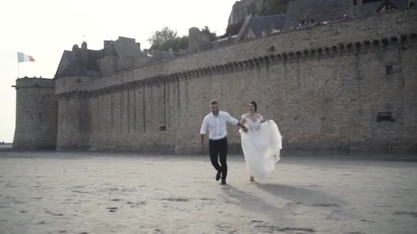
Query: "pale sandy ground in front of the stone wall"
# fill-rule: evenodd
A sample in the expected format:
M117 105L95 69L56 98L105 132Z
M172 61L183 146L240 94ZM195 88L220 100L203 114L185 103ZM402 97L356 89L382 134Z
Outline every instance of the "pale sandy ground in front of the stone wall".
M0 152L0 233L417 233L417 163Z

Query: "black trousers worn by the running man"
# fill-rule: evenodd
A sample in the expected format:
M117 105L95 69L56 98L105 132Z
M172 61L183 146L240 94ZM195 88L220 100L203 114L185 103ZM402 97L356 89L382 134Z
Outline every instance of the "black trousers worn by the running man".
M211 164L213 164L217 172L222 172L222 180L226 180L227 177L227 147L226 138L220 140L208 140L208 153L210 154ZM219 158L220 165L218 161Z

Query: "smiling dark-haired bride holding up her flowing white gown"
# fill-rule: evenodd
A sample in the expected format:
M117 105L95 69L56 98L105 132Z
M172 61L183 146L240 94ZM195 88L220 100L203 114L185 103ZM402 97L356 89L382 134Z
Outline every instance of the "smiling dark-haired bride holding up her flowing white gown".
M267 172L272 172L279 161L283 148L282 136L273 120L263 120L257 113L257 103L248 103L249 113L243 114L241 124L248 128L244 133L241 129L241 145L245 156L246 168L250 173L250 181L265 179Z

